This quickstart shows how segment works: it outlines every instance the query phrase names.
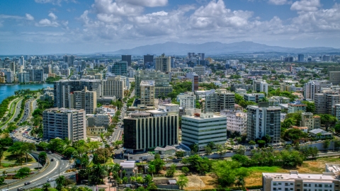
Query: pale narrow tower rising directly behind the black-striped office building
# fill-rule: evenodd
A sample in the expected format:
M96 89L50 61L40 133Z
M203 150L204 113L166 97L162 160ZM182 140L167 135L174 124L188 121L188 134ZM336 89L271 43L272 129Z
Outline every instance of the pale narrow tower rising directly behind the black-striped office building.
M146 106L154 106L154 81L140 82L140 103Z

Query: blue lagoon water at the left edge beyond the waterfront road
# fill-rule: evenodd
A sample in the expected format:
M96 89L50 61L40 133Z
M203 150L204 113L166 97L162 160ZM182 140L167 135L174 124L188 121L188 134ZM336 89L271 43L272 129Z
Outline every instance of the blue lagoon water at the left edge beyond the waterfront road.
M14 91L22 90L22 89L30 89L30 90L38 90L41 88L46 88L47 86L50 86L53 88L53 84L47 84L47 83L33 83L33 84L16 84L16 85L1 85L0 86L0 103L2 100L9 96L14 95Z

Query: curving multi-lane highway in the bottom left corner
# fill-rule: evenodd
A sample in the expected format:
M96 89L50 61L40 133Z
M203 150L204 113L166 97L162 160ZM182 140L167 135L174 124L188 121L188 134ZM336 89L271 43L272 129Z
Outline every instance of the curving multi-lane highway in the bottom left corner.
M38 185L42 185L47 183L48 178L58 178L59 175L72 175L74 173L64 173L67 169L72 166L72 163L69 163L68 160L63 160L61 156L57 154L47 154L47 158L50 161L51 158L54 158L54 161L50 161L50 166L47 167L42 173L35 175L31 178L26 178L23 181L19 181L18 183L13 183L13 185L9 185L9 190L17 190L18 187L23 187L25 189L29 189L31 187L37 187ZM30 182L30 185L24 185L24 183ZM55 181L50 183L52 187L55 187ZM5 188L3 186L2 188Z

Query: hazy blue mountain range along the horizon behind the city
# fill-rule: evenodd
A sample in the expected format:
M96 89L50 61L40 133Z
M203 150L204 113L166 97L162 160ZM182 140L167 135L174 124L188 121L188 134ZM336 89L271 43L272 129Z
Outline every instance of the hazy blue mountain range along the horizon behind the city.
M187 52L203 52L205 54L239 54L254 52L285 52L285 53L330 53L340 52L340 49L332 47L306 47L291 48L268 46L255 42L234 42L225 44L221 42L205 42L203 44L184 44L178 42L165 42L162 44L145 45L132 49L118 50L115 52L105 52L106 54L162 54L166 55L183 55Z

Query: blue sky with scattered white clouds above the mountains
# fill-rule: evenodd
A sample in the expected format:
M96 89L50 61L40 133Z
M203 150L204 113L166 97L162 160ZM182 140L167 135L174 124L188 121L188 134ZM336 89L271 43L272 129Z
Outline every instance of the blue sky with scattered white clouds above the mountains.
M340 48L340 0L0 0L0 54L164 42Z

